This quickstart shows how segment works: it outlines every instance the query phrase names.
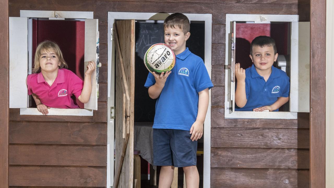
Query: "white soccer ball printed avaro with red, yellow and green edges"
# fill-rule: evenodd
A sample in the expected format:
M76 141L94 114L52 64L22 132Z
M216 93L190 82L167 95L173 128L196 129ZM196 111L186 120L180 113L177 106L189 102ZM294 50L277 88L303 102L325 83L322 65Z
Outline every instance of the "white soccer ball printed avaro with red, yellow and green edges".
M175 54L169 45L165 43L153 44L145 53L144 64L151 72L160 75L170 71L175 65Z

